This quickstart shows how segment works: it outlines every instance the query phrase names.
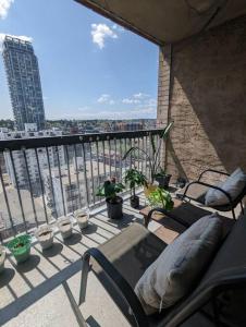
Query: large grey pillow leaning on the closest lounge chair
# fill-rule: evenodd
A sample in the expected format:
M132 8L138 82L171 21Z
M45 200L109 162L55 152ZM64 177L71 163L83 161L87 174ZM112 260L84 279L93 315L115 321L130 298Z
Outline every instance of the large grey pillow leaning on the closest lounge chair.
M199 219L164 249L135 287L146 314L173 305L190 291L221 238L222 222L212 214Z

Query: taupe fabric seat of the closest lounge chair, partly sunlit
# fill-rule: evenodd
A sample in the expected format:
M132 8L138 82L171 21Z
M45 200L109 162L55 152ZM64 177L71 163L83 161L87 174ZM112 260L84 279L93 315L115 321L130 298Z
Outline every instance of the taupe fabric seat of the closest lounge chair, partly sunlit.
M116 268L128 284L134 289L146 269L158 258L167 244L147 230L140 223L132 223L98 249ZM120 292L112 286L112 281L104 270L94 261L93 270L103 284L110 296L121 308L131 326L135 325L128 304Z

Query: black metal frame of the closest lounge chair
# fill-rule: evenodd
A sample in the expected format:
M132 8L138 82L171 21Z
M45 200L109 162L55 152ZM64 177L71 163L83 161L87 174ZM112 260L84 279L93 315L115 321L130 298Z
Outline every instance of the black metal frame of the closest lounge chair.
M131 307L136 323L135 326L150 326L150 318L145 314L132 287L98 249L89 249L82 258L82 279L78 305L85 302L87 278L91 268L90 257L93 257L94 261L96 261L96 263L102 268L112 281L112 287L121 293ZM184 301L181 305L179 305L179 307L174 307L173 311L169 311L169 313L163 316L163 319L158 322L157 327L176 327L194 314L200 311L202 313L202 307L209 302L212 304L213 315L208 318L212 320L216 326L221 326L217 302L218 296L224 291L241 289L242 287L246 287L246 269L226 269L224 271L220 271L216 278L207 281L197 292L195 291L187 301ZM119 308L121 310L121 307ZM223 326L226 325L223 323Z

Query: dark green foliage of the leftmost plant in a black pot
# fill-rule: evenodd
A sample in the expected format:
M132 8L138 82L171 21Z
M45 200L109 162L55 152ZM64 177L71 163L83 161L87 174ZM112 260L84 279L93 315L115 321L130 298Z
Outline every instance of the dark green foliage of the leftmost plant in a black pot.
M96 195L109 199L111 203L118 202L118 193L122 192L125 186L122 183L116 183L115 179L104 181L103 185L98 187Z

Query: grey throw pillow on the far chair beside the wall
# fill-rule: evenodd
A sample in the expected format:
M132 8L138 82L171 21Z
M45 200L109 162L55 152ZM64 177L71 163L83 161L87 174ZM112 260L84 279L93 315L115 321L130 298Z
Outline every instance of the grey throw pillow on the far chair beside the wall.
M246 173L237 168L223 183L218 186L227 192L235 199L246 186ZM229 204L227 196L219 190L210 187L205 197L207 206L222 206Z

